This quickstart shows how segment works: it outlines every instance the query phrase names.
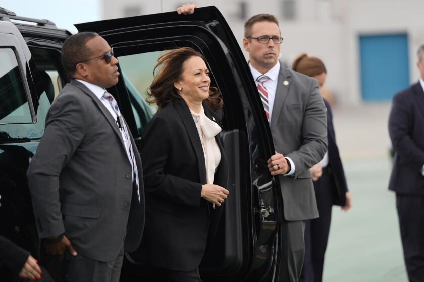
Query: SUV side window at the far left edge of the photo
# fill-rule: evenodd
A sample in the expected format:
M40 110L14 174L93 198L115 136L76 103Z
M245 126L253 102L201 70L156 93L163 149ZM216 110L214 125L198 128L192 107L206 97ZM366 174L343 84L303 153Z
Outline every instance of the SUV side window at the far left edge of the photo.
M0 123L31 123L32 118L15 52L0 48Z

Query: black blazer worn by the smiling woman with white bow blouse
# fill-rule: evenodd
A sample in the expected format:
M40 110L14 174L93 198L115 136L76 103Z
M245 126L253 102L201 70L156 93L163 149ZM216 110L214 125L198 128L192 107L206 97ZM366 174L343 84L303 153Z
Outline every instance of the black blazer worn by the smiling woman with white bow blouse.
M203 103L205 115L220 124ZM213 119L214 118L214 119ZM221 162L214 184L228 188L228 167L219 135ZM146 125L141 142L146 222L140 248L134 257L149 265L179 271L199 266L216 233L224 205L211 208L200 197L206 184L202 145L184 100L170 102ZM133 256L133 255L132 255Z

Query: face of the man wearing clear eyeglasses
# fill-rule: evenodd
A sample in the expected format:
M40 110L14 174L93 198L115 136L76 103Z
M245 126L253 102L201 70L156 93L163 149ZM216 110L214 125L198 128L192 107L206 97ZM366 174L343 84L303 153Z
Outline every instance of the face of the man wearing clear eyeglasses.
M251 37L266 35L268 37L280 37L280 29L274 22L256 22L250 28ZM272 40L268 43L259 43L256 39L243 39L243 47L249 52L249 59L252 66L262 74L268 72L278 60L280 55L280 45Z

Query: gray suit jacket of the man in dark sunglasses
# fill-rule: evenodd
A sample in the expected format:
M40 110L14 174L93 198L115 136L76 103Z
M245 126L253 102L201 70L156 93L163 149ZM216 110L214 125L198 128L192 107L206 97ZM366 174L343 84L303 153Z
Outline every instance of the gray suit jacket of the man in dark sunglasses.
M52 104L27 176L40 238L65 233L77 253L98 261L134 251L144 227L141 158L131 136L141 204L119 128L77 81Z

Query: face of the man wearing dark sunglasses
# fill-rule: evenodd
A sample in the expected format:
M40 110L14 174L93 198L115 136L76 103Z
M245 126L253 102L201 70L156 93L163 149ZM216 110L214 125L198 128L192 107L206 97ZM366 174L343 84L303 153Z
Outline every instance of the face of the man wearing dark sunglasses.
M75 78L103 88L110 88L117 84L119 77L118 59L112 56L111 61L107 63L102 56L111 50L108 42L103 37L96 36L87 41L86 45L91 50L91 55L87 59L93 59L77 64Z

